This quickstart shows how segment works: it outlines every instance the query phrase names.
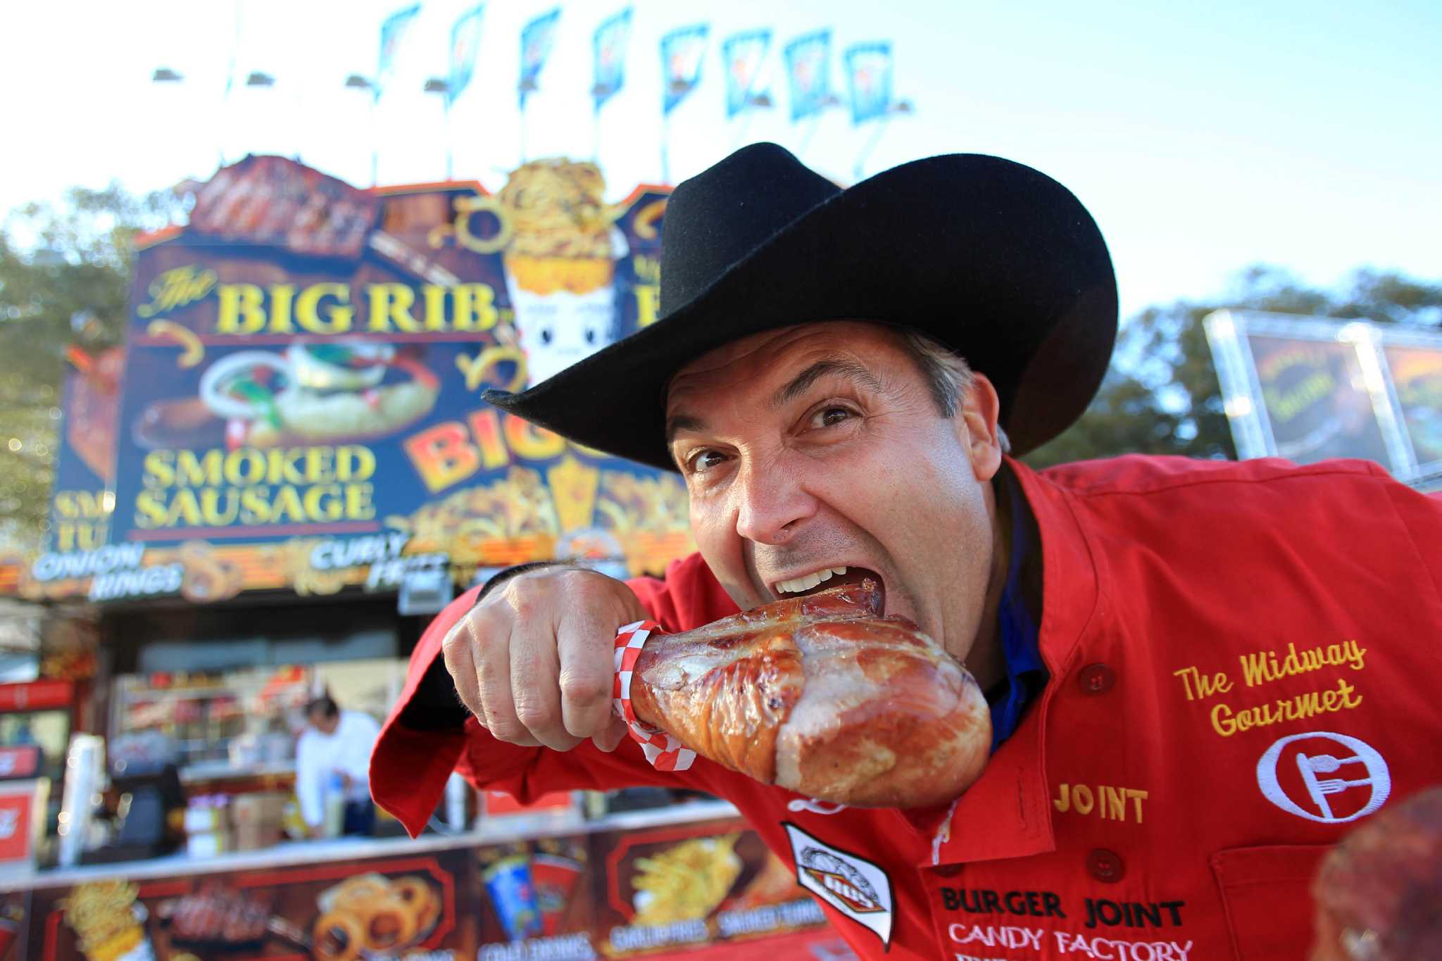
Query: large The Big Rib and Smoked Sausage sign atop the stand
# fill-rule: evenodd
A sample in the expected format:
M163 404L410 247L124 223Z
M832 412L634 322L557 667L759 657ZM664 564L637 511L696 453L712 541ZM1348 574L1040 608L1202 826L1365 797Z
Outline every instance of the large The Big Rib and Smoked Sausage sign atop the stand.
M108 540L56 543L22 592L203 602L686 553L675 475L480 401L655 320L666 192L604 187L562 160L496 196L358 190L283 157L222 169L137 256Z

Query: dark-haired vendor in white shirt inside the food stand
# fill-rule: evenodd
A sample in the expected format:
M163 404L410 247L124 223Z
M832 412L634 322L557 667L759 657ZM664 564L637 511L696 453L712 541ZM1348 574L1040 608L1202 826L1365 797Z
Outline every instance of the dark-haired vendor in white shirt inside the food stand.
M336 827L340 834L371 834L371 748L381 726L368 713L340 710L329 694L306 705L306 720L310 726L296 745L296 797L310 836L329 837ZM327 820L339 826L327 830Z

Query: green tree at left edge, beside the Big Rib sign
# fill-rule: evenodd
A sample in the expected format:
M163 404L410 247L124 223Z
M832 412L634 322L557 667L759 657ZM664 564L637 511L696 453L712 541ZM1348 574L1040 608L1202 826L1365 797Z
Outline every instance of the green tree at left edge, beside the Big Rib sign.
M0 223L0 545L32 547L45 527L59 441L65 350L121 341L133 238L164 226L174 197L117 184L72 189Z

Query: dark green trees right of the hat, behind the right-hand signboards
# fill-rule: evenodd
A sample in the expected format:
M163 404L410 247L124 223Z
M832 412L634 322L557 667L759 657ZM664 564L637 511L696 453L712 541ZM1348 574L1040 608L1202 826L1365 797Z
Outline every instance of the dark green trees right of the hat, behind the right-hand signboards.
M1116 454L1236 458L1221 388L1201 318L1214 310L1259 310L1438 327L1442 284L1361 269L1340 290L1319 290L1285 271L1243 271L1229 297L1149 307L1123 326L1112 367L1086 414L1025 457L1050 467Z

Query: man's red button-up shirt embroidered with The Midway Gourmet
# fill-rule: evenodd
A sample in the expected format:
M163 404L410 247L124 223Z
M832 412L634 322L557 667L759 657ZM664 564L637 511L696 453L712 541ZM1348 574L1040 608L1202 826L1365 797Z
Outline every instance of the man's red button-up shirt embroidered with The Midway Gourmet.
M474 719L410 730L397 713L473 594L415 650L376 800L415 831L457 765L522 800L709 791L868 958L1301 961L1319 854L1442 781L1442 503L1361 461L1012 467L1051 680L950 810L838 811L704 759L659 774L632 742L500 743ZM632 586L668 630L734 609L695 556Z

